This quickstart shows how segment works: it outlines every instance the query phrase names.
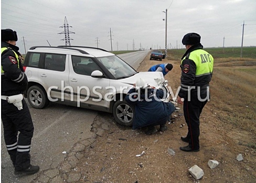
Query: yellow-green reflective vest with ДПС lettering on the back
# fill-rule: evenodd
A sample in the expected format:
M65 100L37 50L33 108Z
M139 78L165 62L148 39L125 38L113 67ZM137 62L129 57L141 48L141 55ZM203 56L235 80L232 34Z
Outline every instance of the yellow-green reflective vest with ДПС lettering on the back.
M199 49L190 52L185 59L193 60L196 64L196 77L212 74L214 69L214 58L205 50Z

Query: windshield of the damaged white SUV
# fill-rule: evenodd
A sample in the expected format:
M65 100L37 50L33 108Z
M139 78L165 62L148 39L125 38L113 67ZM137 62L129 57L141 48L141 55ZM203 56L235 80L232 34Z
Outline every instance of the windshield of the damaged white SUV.
M125 63L116 55L99 57L97 59L116 79L130 77L137 73L130 65Z

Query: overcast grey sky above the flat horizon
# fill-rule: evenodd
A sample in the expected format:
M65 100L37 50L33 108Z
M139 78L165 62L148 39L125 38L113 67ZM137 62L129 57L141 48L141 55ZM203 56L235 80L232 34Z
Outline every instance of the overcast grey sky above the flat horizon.
M21 53L35 45L65 45L67 17L71 45L111 51L185 48L182 38L197 32L204 47L256 45L256 0L2 0L1 28L17 31ZM225 39L223 39L225 37ZM24 41L25 47L24 47ZM48 42L47 42L48 41Z

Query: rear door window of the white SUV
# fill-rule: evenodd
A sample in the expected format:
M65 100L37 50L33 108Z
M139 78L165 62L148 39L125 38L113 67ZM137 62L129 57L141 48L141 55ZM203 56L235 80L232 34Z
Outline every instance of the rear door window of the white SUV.
M52 71L65 71L66 55L45 54L45 69Z

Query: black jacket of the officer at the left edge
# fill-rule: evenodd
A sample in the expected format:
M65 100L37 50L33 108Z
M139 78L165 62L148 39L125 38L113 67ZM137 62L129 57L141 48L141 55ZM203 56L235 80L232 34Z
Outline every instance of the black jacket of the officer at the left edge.
M21 61L17 61L14 51L17 55L19 48L15 45L1 42L1 48L8 48L1 54L1 66L4 74L1 75L1 95L11 96L22 94L26 89L28 80L24 74ZM19 63L19 67L18 67Z

